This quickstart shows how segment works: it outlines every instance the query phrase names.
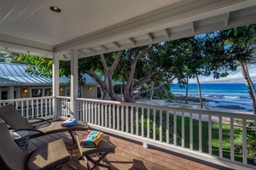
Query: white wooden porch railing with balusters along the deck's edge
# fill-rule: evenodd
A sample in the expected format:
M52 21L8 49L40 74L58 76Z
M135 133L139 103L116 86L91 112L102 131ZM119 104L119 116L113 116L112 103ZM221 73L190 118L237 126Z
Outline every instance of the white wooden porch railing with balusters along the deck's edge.
M53 118L52 99L0 100L0 105L13 103L26 118ZM70 98L57 99L57 116L71 116ZM247 127L247 122L256 121L255 115L98 99L76 100L79 102L79 119L88 122L92 128L142 142L144 147L153 145L225 167L256 167L247 161L247 153L250 151L247 150L247 134L251 129ZM241 154L236 152L237 133L241 133ZM214 145L216 140L218 145Z

